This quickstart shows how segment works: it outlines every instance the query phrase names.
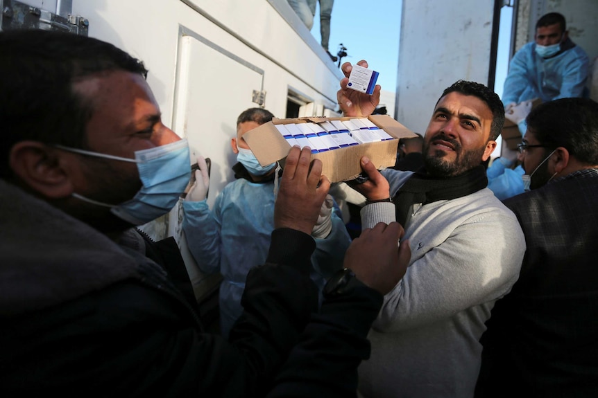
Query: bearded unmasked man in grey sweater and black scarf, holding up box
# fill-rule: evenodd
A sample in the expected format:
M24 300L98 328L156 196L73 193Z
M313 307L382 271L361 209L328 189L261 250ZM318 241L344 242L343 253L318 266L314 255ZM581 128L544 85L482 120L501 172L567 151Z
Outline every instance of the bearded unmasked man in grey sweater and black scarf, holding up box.
M361 66L367 67L365 61ZM348 76L350 64L343 64ZM346 116L367 116L379 100L341 80ZM518 278L525 250L517 218L488 190L484 167L504 124L498 96L459 80L445 89L425 132L425 168L386 169L366 157L364 228L399 221L411 247L402 280L384 296L359 368L363 397L472 397L481 361L479 338L496 300Z

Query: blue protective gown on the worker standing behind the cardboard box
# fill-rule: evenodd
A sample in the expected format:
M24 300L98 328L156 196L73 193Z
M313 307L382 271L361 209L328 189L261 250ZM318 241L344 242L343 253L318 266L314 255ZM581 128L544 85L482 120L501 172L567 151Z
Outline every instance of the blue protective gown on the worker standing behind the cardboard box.
M274 230L274 181L253 183L237 179L216 197L210 211L206 201L183 201L182 229L189 251L201 271L220 271L221 333L228 336L239 318L241 296L249 269L264 264ZM333 208L334 209L338 209ZM345 251L351 243L345 224L332 212L332 231L325 239L315 239L311 256L311 279L322 288L334 271L341 269Z

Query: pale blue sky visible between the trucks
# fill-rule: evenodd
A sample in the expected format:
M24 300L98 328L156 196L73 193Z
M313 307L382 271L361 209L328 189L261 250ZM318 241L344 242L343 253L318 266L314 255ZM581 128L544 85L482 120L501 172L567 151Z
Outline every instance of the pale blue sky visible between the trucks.
M339 44L347 48L343 62L365 59L379 73L383 90L396 91L402 1L336 0L332 7L329 51L336 55ZM495 91L502 95L509 62L511 8L503 8L498 48ZM320 40L319 6L311 34ZM338 63L338 62L337 62Z

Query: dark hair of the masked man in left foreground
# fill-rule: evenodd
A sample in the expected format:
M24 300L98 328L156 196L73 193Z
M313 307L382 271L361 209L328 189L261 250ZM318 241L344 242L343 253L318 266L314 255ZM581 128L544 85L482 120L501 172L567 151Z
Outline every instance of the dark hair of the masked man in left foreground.
M95 73L128 71L145 76L142 62L91 37L48 30L0 32L0 177L12 173L8 154L32 140L84 148L92 116L89 98L74 82Z

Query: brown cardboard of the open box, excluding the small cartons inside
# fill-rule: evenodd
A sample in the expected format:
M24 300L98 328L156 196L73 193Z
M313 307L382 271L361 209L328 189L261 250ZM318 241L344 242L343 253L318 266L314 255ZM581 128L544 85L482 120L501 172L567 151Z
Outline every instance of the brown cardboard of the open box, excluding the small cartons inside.
M291 147L287 140L278 132L275 125L287 125L289 123L321 123L330 120L348 120L354 117L343 118L292 118L277 119L264 123L243 135L243 138L249 145L253 154L262 166L269 165L275 161L280 161L287 157ZM366 143L344 147L338 150L330 150L311 154L311 160L320 159L322 161L322 174L328 177L331 182L346 181L354 179L361 173L359 159L361 156L368 156L370 161L378 169L388 168L395 165L397 160L397 147L399 138L414 137L416 134L398 123L398 121L388 115L371 115L368 117L377 127L384 129L386 133L393 136L394 140L379 141L375 143Z

